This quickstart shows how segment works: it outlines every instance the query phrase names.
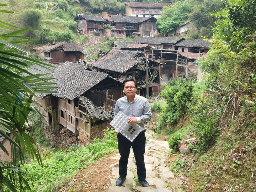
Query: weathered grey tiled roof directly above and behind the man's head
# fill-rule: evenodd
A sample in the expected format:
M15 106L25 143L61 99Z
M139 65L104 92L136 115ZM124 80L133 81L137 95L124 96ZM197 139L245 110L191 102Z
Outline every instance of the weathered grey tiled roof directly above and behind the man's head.
M96 60L92 66L123 73L142 62L142 56L143 54L139 51L115 49Z

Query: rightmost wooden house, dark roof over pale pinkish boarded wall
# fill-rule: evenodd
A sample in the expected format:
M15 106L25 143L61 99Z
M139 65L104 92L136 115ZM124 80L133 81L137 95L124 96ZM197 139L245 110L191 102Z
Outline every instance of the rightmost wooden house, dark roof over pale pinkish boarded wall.
M194 61L197 58L206 55L209 50L210 43L202 39L183 40L175 44L178 52Z

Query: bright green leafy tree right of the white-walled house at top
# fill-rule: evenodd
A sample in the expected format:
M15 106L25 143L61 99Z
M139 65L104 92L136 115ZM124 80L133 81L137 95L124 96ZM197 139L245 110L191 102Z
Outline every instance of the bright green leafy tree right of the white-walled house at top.
M162 15L157 19L156 23L161 33L169 33L188 21L192 5L187 1L178 1L172 6L164 6Z

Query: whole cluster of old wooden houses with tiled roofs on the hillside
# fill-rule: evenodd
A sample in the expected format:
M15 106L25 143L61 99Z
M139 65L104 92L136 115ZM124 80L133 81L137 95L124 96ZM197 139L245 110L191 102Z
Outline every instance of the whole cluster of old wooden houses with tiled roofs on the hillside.
M53 68L33 66L31 73L55 78L56 93L34 98L52 131L66 128L88 144L102 138L109 127L113 107L123 96L122 81L134 78L137 94L158 97L162 85L178 76L196 78L193 62L204 56L210 44L183 37L155 37L156 17L167 4L126 2L126 16L103 14L102 17L78 14L78 33L107 38L136 37L134 41L115 41L112 50L87 65L88 52L83 43L55 42L35 47L34 51ZM169 4L168 4L169 5ZM186 32L185 23L179 32Z

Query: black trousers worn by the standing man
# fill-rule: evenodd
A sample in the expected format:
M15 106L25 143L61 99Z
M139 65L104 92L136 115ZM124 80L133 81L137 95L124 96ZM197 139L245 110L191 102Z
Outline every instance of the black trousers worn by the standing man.
M121 133L117 135L118 139L118 150L121 158L119 159L119 176L126 177L127 175L127 164L130 155L130 147L133 148L133 153L137 165L137 175L140 181L146 180L146 168L144 162L144 153L146 145L145 133L139 134L133 142L130 142Z

